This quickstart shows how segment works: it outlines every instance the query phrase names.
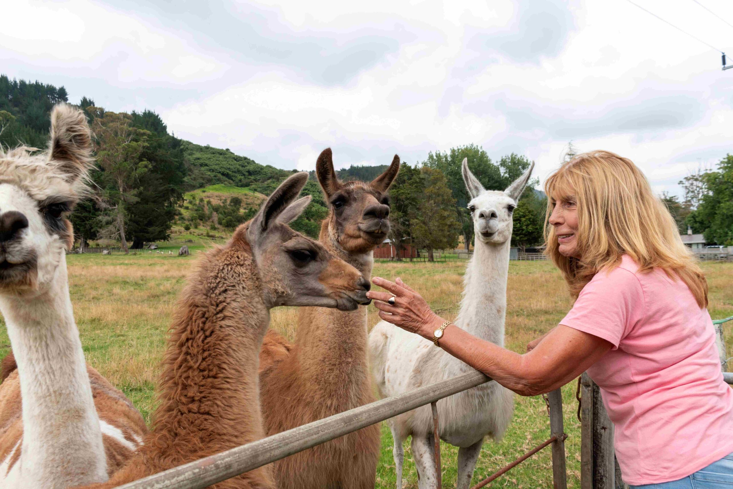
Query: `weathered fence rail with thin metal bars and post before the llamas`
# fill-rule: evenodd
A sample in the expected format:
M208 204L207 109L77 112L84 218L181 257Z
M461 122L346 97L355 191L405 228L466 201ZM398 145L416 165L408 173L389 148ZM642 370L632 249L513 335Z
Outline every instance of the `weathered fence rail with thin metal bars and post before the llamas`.
M371 424L382 422L397 414L411 411L424 405L431 405L433 424L437 430L438 417L435 402L443 397L449 397L458 392L480 386L492 381L481 372L468 372L455 378L441 380L430 386L424 386L414 391L387 397L386 399L363 405L343 413L320 419L319 421L287 430L276 435L262 438L262 440L237 446L217 455L205 457L183 466L171 468L167 471L153 474L150 477L139 479L116 489L202 489L239 474L273 463L294 453L320 445L339 436L352 433ZM562 421L562 395L559 389L550 392L547 398L550 416L550 438L544 443L527 452L523 457L501 468L496 474L484 479L472 489L484 487L496 477L506 473L518 463L523 462L534 453L552 446L553 485L557 489L567 489L567 474L565 469L565 438ZM438 437L436 437L438 439ZM440 460L440 444L435 446L436 461ZM440 465L438 466L438 481ZM441 486L438 486L440 489Z

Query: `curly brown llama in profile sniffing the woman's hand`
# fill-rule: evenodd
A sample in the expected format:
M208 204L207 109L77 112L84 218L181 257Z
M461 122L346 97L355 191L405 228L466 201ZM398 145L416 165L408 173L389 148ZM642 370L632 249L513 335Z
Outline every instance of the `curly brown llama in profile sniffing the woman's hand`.
M274 306L344 311L369 302L369 282L320 243L287 227L310 202L292 202L308 174L292 175L188 279L163 357L152 432L103 485L114 488L262 438L257 366ZM292 203L291 203L292 202ZM273 488L270 467L211 487Z

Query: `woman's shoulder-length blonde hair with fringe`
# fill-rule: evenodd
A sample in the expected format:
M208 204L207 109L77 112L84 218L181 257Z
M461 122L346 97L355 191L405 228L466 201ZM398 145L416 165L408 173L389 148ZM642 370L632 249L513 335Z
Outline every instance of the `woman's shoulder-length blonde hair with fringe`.
M632 161L609 151L577 155L550 175L545 193L545 254L562 272L573 297L596 273L616 268L628 254L641 273L662 269L671 279L687 284L701 309L707 307L704 274L679 238L667 207ZM579 259L560 254L549 224L553 201L570 196L578 208Z

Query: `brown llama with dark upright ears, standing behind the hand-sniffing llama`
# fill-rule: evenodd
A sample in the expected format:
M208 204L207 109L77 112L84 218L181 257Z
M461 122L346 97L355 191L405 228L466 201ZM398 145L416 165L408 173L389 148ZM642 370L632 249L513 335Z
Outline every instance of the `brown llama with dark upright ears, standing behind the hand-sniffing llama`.
M331 150L316 163L329 212L320 243L369 278L372 250L389 232L389 185L399 157L371 183L339 182ZM301 309L295 345L268 331L260 353L262 416L268 435L375 400L367 367L367 308ZM279 488L373 488L378 425L276 462Z

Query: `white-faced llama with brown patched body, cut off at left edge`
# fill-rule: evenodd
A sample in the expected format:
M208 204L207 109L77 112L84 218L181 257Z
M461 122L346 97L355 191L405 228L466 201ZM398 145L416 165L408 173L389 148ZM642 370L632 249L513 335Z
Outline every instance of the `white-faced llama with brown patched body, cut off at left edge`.
M67 213L92 164L81 111L57 105L49 150L0 148L0 311L13 353L2 362L0 486L103 482L147 433L140 413L92 367L69 297Z

